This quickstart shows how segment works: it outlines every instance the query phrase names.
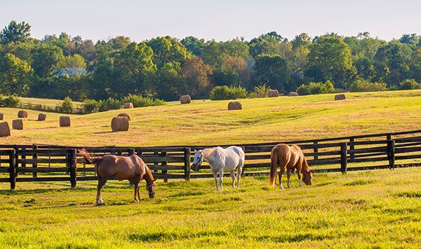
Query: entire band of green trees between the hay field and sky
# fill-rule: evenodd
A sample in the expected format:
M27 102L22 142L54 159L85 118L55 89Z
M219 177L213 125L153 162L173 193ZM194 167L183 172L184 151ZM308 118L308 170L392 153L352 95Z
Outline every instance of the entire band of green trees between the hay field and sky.
M299 34L288 41L272 31L250 41L162 36L137 43L117 36L94 43L64 32L36 39L30 31L28 23L15 21L0 31L0 94L76 101L138 94L175 100L182 94L208 98L217 86L311 93L318 85L396 90L421 82L417 34L388 42L368 32Z

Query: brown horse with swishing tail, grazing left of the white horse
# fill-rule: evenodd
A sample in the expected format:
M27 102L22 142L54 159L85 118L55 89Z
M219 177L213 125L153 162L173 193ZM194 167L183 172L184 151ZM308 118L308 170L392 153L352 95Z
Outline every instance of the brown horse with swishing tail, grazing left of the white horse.
M145 162L137 155L128 157L105 155L103 157L91 157L85 149L78 150L78 156L83 157L78 162L85 164L95 164L95 171L98 175L98 190L96 204L103 204L101 198L102 186L107 183L109 178L113 176L119 180L129 180L135 185L135 201L139 201L139 182L146 180L146 190L149 192L149 198L155 197L155 180L152 172L149 170Z

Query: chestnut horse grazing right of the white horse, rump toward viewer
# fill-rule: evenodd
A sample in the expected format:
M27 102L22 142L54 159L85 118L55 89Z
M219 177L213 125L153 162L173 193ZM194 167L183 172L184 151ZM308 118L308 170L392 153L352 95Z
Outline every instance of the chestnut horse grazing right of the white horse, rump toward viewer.
M287 145L279 143L272 148L270 154L272 165L270 167L269 185L275 186L276 184L276 167L281 166L279 170L279 188L285 190L282 187L282 174L286 170L286 176L288 177L287 185L290 187L289 178L291 175L291 169L297 169L298 183L301 185L301 173L302 181L306 185L312 185L312 170L309 169L309 164L302 153L301 148L298 145Z

